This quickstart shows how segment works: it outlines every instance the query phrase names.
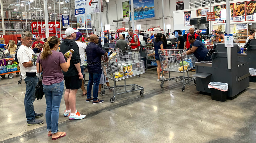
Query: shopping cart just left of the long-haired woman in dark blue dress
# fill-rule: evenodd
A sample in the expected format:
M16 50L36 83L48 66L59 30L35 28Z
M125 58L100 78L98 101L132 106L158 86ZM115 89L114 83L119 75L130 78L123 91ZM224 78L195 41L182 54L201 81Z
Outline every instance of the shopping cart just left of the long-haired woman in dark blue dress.
M146 54L146 68L145 68L145 71L148 70L148 66L157 67L154 45L145 45L145 54ZM151 61L150 64L148 64L148 60Z

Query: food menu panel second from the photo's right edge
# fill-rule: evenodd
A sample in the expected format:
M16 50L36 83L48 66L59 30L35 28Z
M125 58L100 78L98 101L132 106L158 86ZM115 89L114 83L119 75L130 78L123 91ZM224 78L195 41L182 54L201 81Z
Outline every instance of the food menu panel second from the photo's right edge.
M245 2L234 3L234 22L245 21Z

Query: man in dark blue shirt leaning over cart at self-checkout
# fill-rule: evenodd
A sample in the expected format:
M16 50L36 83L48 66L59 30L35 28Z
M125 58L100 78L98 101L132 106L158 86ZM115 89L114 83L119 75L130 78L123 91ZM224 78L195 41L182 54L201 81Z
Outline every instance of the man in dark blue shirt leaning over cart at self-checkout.
M197 40L194 34L188 36L188 41L191 43L190 49L187 51L187 55L194 54L198 59L198 62L201 61L211 61L211 57L207 56L208 50L204 44Z

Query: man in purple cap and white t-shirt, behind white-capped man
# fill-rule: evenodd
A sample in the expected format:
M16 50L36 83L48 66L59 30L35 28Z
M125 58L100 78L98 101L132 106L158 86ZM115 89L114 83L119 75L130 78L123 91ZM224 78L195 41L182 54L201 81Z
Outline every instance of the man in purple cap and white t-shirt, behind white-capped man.
M82 33L80 32L76 32L76 39L75 39L75 42L76 44L78 45L79 47L79 54L80 54L80 58L81 58L81 72L83 74L83 78L84 78L84 59L85 59L85 49L86 49L86 44L82 43ZM87 69L86 69L87 70ZM82 95L86 95L87 94L87 91L84 87L84 79L82 79L82 87L81 87L83 93Z

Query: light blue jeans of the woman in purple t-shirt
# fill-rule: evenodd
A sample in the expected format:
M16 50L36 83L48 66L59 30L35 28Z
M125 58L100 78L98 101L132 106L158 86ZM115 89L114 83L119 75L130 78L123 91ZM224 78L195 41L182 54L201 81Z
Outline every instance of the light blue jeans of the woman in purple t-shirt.
M59 121L59 106L64 90L64 82L44 85L43 91L45 94L46 101L46 124L47 131L52 131L52 134L58 132L58 121Z

